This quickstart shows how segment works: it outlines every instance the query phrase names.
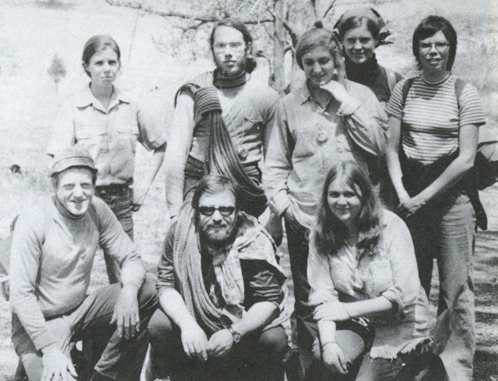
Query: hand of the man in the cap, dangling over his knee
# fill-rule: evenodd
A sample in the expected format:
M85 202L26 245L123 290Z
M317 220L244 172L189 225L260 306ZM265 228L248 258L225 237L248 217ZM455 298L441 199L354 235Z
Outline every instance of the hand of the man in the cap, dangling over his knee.
M118 336L128 340L140 331L139 289L132 284L125 284L119 292L118 301L114 306L113 317L109 324L116 323Z

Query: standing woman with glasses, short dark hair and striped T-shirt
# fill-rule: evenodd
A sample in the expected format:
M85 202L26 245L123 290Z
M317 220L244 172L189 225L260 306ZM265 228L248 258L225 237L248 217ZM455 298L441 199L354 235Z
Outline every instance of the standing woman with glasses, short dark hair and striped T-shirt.
M456 32L445 18L429 16L417 26L412 48L422 74L398 83L389 100L386 156L427 295L437 260L436 348L450 380L471 380L476 217L466 174L484 115L474 86L451 73L456 46Z

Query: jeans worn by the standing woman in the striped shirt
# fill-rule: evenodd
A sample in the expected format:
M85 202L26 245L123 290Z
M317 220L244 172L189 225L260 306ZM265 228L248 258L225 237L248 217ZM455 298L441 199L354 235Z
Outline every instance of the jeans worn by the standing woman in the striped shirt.
M407 218L427 295L433 258L439 270L434 347L450 381L471 380L476 349L472 257L476 218L467 195L451 191Z

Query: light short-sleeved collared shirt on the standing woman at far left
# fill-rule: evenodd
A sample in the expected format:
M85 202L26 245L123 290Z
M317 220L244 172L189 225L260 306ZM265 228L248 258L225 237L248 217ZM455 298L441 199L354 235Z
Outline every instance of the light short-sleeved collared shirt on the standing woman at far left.
M97 186L133 181L136 142L149 151L165 141L165 129L146 118L129 94L114 87L106 109L83 87L61 108L46 153L69 145L86 148L97 166Z

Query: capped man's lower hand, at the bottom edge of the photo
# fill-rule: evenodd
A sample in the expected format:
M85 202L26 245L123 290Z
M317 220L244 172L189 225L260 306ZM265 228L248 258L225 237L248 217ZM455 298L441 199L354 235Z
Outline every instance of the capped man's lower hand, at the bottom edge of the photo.
M41 381L76 381L76 370L71 359L56 344L42 348L43 373Z

